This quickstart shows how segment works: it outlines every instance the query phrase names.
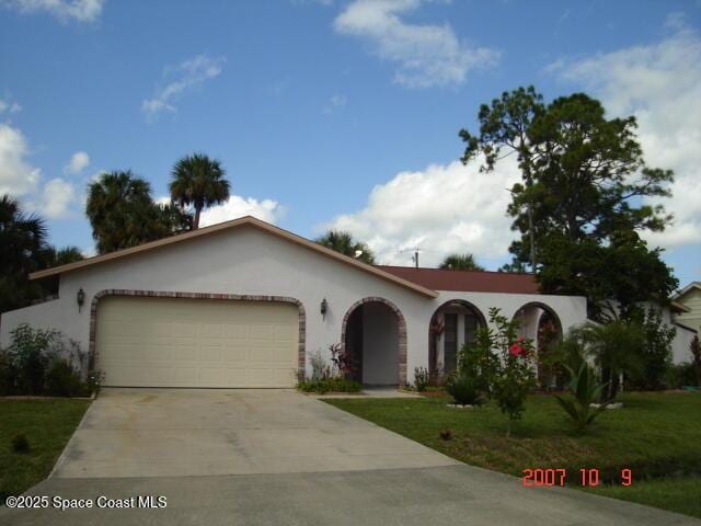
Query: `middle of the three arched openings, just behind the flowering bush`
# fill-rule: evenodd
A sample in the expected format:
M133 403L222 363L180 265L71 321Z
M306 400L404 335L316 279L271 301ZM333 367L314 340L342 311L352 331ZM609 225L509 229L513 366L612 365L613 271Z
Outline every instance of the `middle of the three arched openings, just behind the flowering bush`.
M460 347L473 342L475 331L484 327L484 315L470 301L451 299L438 307L428 325L430 375L441 378L455 370Z

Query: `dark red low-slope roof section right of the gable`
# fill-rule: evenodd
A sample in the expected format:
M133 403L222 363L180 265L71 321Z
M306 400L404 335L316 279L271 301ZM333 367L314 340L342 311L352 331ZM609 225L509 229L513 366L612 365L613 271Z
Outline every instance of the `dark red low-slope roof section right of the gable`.
M536 283L531 274L444 271L441 268L416 268L413 266L377 266L384 272L434 290L538 294L538 283Z

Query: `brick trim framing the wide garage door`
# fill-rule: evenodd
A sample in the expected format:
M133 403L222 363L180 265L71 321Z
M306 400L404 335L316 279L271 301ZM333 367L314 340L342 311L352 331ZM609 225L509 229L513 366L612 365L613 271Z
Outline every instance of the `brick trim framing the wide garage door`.
M184 299L223 299L223 300L241 300L241 301L276 301L284 304L292 304L297 306L299 312L299 342L297 346L297 368L303 373L307 366L307 315L304 306L297 298L288 296L255 296L240 294L209 294L209 293L174 293L161 290L128 290L122 288L108 288L95 294L92 298L90 307L90 342L89 347L89 367L93 370L97 363L95 350L95 338L97 330L97 304L106 296L129 296L141 298L184 298Z

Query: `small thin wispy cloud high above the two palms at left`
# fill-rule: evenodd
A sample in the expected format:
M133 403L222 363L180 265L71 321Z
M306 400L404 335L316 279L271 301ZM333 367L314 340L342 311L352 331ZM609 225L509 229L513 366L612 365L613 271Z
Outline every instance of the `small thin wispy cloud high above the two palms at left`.
M161 112L176 112L175 101L207 80L218 77L225 62L225 57L210 58L198 55L185 60L176 68L166 69L164 78L168 84L158 90L152 99L145 100L141 103L141 111L148 119L154 118Z

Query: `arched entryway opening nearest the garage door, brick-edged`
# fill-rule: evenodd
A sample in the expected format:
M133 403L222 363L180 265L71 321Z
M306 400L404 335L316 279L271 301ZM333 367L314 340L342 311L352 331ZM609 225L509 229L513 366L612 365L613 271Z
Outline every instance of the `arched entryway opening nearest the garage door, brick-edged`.
M391 301L369 297L353 304L343 317L341 342L353 357L357 381L406 384L406 322Z

